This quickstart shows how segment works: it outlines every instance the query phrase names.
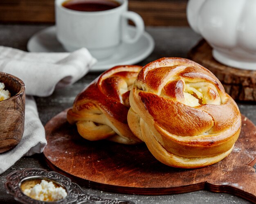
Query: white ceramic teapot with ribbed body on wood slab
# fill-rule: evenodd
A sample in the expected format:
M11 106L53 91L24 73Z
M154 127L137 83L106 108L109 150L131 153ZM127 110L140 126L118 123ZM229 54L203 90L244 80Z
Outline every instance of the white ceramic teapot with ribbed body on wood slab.
M217 61L256 70L256 0L189 0L187 18Z

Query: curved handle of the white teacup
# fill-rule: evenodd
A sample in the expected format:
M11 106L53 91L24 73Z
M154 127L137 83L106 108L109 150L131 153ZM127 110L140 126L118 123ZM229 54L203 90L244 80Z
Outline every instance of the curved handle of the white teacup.
M130 36L128 33L127 20L131 20L135 24L135 36ZM144 21L141 16L133 11L126 11L122 13L122 41L126 43L135 43L144 33Z

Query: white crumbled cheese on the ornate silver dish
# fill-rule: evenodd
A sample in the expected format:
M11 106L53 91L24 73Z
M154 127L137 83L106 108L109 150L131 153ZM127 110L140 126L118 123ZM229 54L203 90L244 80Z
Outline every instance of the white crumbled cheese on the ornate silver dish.
M42 180L31 189L25 189L24 194L40 201L57 201L67 196L65 189L61 186L56 188L52 181L46 180Z

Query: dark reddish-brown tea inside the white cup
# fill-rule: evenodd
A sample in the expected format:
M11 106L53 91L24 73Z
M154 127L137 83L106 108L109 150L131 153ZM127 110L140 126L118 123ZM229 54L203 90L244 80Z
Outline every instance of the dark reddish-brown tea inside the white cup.
M120 3L115 0L67 0L63 7L75 11L106 11L115 9Z

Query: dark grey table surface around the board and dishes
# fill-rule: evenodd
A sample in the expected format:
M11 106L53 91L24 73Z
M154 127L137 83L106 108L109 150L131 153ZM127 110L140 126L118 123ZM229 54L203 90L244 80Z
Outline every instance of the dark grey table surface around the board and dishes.
M29 38L41 29L51 26L45 25L16 25L0 24L0 46L9 46L27 50ZM155 40L155 49L146 59L137 63L145 65L161 57L186 57L188 51L201 39L189 27L146 27L146 31ZM76 95L95 79L101 72L89 72L85 77L67 88L55 90L50 97L36 98L40 119L45 125L53 116L72 106ZM256 124L256 103L238 103L242 114ZM43 154L24 156L12 167L0 175L0 203L16 203L4 188L6 176L14 170L25 168L43 168L47 170ZM255 168L255 167L254 167ZM109 193L97 189L88 189L82 186L85 193L100 197L131 200L137 204L183 204L183 203L249 203L248 201L227 193L211 193L205 190L177 195L126 195Z

